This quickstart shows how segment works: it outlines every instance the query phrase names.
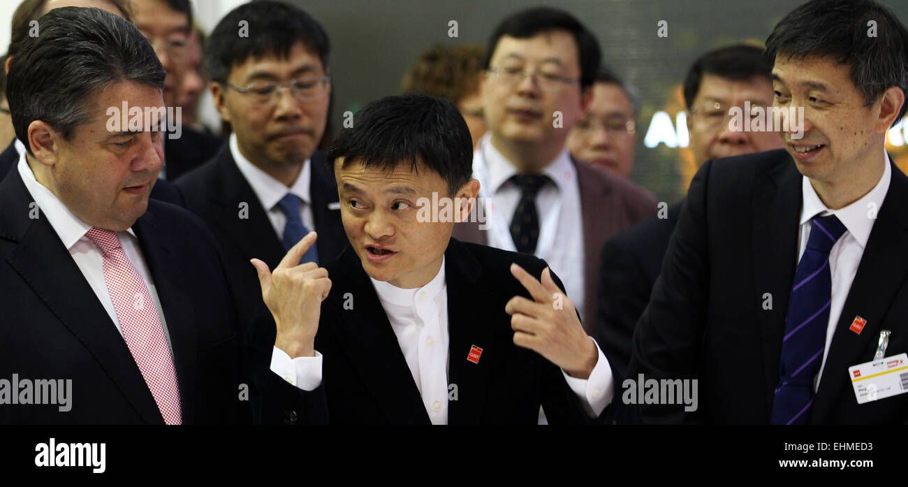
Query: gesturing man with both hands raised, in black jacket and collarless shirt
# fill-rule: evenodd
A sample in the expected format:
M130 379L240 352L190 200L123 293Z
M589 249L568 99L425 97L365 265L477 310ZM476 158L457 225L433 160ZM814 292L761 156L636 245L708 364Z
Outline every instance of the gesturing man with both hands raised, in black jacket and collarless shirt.
M608 362L547 264L450 237L479 191L454 104L367 104L328 161L350 246L296 265L311 234L273 273L253 261L272 313L301 315L276 323L275 373L323 377L336 423L535 424L540 405L552 422L620 419ZM274 291L287 282L302 295Z

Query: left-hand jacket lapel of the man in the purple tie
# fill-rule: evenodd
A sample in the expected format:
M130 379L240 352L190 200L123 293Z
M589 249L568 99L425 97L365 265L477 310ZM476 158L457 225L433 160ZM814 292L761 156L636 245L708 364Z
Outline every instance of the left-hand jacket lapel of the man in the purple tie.
M784 163L772 160L768 164L775 165L755 168L757 182L752 204L755 290L759 293L755 299L761 303L757 321L763 337L767 422L779 378L785 314L788 313L788 299L795 279L803 197L802 175L798 173L791 156L784 154L784 157ZM765 293L772 296L772 309L763 307Z

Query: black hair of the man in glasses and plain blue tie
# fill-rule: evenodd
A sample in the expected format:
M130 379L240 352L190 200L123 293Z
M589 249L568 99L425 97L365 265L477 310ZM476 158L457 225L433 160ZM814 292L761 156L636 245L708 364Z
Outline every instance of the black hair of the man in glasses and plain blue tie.
M238 35L241 21L248 36ZM234 66L250 57L277 55L286 59L291 47L302 43L319 56L328 72L331 43L321 24L300 8L280 2L252 2L240 5L218 22L205 45L204 66L212 81L226 83Z

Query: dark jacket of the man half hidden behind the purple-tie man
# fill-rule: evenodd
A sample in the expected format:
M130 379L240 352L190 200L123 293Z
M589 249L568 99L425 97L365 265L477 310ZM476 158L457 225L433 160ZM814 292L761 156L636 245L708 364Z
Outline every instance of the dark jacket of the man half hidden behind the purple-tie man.
M634 326L649 303L682 204L683 201L669 206L665 218L651 216L602 246L598 273L599 346L622 373L630 362Z

